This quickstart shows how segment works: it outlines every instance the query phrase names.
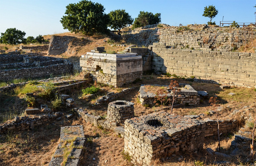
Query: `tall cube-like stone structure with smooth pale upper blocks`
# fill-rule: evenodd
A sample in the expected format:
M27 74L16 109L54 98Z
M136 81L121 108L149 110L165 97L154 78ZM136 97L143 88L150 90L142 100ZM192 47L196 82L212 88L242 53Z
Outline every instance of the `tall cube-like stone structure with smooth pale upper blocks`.
M87 53L81 56L80 66L82 70L92 73L98 82L114 87L141 79L143 74L143 59L136 53Z

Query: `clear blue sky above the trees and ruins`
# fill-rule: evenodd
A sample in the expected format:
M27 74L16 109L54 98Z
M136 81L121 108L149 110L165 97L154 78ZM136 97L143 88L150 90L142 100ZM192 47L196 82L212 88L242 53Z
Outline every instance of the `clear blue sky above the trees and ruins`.
M0 32L7 28L17 28L28 36L38 36L66 32L60 20L66 6L80 0L0 0ZM161 23L178 26L204 24L204 7L214 5L218 15L213 18L217 25L224 21L254 23L256 0L92 0L105 7L105 13L125 9L131 17L140 11L161 13Z

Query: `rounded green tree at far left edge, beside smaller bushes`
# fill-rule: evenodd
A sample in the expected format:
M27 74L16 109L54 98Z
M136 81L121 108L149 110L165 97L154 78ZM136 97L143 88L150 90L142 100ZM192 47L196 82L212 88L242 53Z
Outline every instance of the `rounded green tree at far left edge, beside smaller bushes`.
M16 28L8 28L5 33L1 33L0 42L4 44L17 45L26 42L26 33Z

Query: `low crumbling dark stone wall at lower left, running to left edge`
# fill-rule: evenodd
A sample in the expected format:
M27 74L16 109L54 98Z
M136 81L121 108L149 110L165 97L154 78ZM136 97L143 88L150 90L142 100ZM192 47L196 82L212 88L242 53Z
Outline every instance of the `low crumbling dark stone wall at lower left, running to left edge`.
M0 124L0 134L7 134L8 132L17 132L25 129L34 129L34 127L44 126L55 121L63 113L43 114L40 116L21 116L15 117L11 122Z

